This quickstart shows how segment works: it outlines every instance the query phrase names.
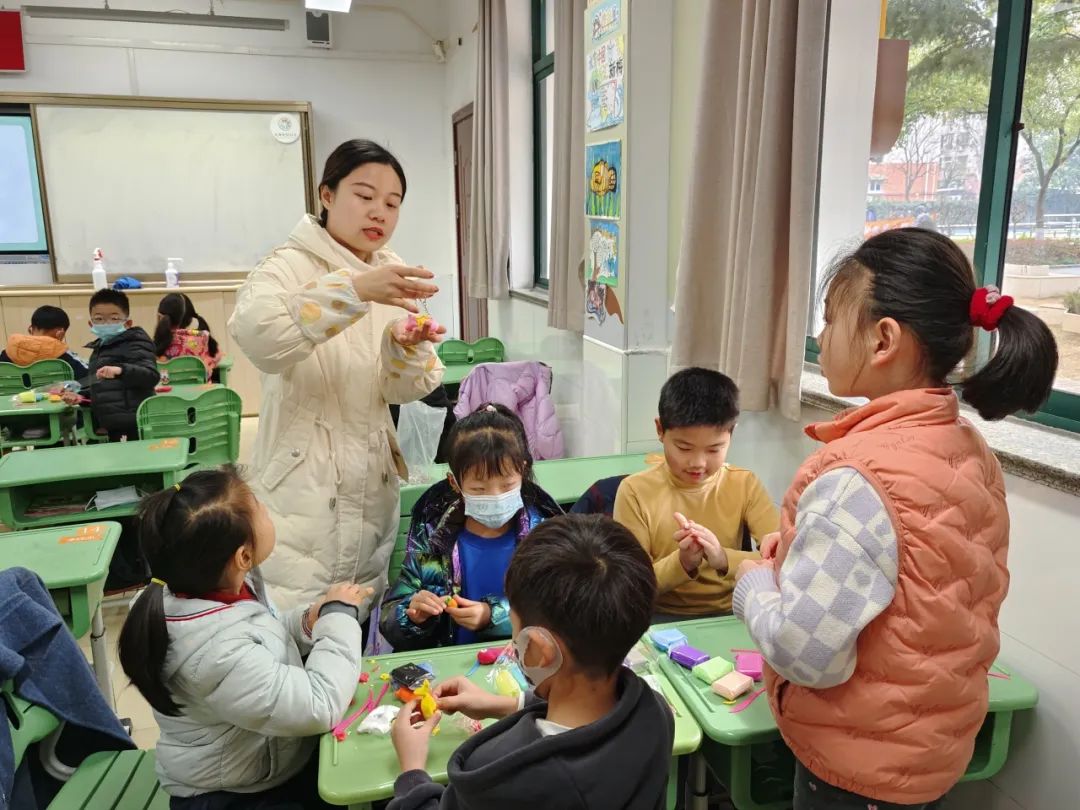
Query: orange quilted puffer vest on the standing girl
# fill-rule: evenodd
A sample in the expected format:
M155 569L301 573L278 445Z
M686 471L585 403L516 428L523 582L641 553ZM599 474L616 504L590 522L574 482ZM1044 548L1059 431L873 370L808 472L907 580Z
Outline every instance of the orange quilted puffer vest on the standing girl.
M784 498L777 570L802 491L850 467L890 511L896 594L860 634L847 683L809 689L768 670L772 713L795 756L825 782L880 801L933 801L963 774L986 716L1009 589L1001 467L949 389L882 396L807 433L826 446Z

